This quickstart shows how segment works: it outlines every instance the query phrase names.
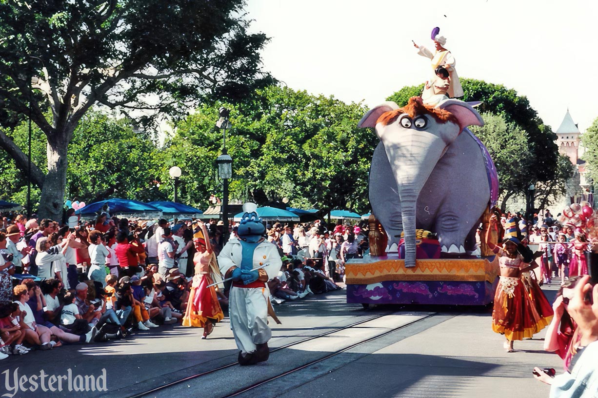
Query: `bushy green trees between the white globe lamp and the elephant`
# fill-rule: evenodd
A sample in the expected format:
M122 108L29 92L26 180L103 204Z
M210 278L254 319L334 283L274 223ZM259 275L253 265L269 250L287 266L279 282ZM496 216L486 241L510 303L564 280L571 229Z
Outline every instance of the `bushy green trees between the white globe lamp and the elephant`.
M163 152L172 162L164 172L171 164L188 170L181 182L190 203L200 207L210 193L221 192L213 165L222 142L221 131L213 127L216 108L202 106L177 124ZM366 210L377 143L371 131L356 127L366 111L361 104L286 87L258 90L231 110L231 198L263 204L289 197L293 206Z

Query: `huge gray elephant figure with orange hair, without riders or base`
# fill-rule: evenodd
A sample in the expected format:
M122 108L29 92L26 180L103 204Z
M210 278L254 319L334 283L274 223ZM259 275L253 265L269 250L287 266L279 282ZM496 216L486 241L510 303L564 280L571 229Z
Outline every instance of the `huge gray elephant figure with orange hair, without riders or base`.
M376 106L359 121L380 143L370 169L373 214L388 234L387 252L404 235L405 267L416 265L416 229L437 234L441 251L471 254L483 213L496 204L498 176L484 145L466 128L483 125L466 102L436 106L412 97Z

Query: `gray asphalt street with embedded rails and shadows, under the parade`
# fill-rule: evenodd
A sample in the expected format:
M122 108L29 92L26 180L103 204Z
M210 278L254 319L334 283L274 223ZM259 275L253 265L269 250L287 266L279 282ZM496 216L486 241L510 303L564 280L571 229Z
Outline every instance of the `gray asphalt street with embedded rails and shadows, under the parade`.
M556 287L545 292L553 299ZM347 304L341 290L285 302L275 310L282 324L270 322L271 350L298 344L271 353L266 363L228 367L147 396L231 396L289 372L238 396L492 398L523 394L544 398L549 388L533 379L533 366L562 371L559 357L542 350L544 332L515 342L517 351L505 353L504 338L490 329L488 309L385 306L365 311L361 305ZM102 375L105 369L108 391L77 392L81 397L130 397L212 371L236 361L237 349L227 320L218 324L207 340L200 339L202 329L161 326L121 341L11 356L0 362L0 395L14 391L10 388L17 368L19 376L41 371L65 375L68 369L72 375ZM367 342L359 344L362 341ZM301 365L303 369L294 371ZM10 374L8 380L4 370ZM14 396L73 396L66 390L44 392L37 388Z

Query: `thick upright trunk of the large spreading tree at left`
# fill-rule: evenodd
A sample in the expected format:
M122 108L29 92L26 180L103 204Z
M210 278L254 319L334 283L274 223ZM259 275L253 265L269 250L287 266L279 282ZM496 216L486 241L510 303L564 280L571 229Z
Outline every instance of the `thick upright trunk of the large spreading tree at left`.
M48 173L39 199L38 218L62 220L66 186L66 152L68 150L68 131L56 131L48 137L47 157Z

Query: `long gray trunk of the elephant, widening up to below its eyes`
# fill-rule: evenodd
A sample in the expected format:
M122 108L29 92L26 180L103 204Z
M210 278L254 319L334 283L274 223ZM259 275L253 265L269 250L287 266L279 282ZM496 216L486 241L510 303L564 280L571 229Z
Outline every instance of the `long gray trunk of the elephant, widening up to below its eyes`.
M444 154L443 139L425 131L411 130L385 142L386 154L395 174L401 200L401 218L405 243L405 267L416 263L416 204L419 193L438 160Z

